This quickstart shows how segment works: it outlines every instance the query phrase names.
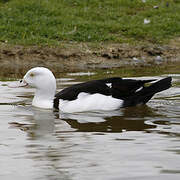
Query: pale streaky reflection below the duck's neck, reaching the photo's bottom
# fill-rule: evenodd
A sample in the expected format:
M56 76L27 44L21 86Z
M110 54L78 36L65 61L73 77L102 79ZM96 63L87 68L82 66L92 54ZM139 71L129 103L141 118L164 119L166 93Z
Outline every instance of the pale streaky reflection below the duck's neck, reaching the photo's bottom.
M71 179L69 173L61 170L57 164L64 157L64 145L54 136L54 112L32 108L32 113L32 116L27 118L33 125L25 130L29 142L26 145L26 158L34 160L35 168L39 167L37 179Z

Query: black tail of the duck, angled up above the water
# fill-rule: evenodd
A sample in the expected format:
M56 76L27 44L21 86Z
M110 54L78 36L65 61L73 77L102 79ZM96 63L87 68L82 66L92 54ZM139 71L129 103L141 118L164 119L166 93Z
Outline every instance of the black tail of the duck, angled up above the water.
M164 91L171 87L171 77L161 79L148 87L143 87L134 95L128 97L123 104L123 107L135 106L138 104L146 104L154 94Z

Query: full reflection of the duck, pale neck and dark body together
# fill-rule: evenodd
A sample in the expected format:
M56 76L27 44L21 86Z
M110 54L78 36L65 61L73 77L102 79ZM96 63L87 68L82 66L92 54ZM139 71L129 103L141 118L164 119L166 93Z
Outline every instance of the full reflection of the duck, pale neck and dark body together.
M159 115L144 105L129 107L113 112L94 112L63 114L51 110L31 109L32 114L26 115L28 123L11 122L11 127L26 131L28 137L41 139L54 132L123 132L143 131L156 128L161 121L148 123L148 120ZM16 115L17 116L17 115ZM20 116L20 115L19 115ZM23 115L24 116L24 115ZM161 124L168 122L162 122ZM57 130L56 130L57 129Z

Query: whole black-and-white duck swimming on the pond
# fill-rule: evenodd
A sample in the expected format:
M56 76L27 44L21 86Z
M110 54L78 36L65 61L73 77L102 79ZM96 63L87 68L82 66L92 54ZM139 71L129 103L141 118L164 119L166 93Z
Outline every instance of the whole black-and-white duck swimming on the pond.
M33 106L45 109L54 107L66 113L74 113L113 111L145 104L154 94L171 86L171 77L168 77L145 87L146 83L152 81L107 78L76 84L55 95L56 80L53 73L47 68L36 67L26 73L19 86L30 85L36 88Z

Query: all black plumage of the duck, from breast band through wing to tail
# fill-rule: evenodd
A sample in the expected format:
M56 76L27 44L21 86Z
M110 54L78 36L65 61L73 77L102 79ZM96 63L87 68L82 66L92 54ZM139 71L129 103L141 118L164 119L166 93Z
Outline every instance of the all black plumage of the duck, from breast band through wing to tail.
M165 90L171 86L171 77L160 80L149 87L146 83L153 80L122 79L120 77L100 79L76 84L63 89L55 95L54 107L58 109L59 99L75 100L79 93L100 93L124 100L124 107L136 104L145 104L155 93ZM111 83L109 87L107 84ZM136 92L139 88L142 90Z

